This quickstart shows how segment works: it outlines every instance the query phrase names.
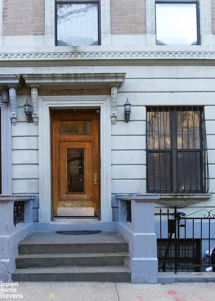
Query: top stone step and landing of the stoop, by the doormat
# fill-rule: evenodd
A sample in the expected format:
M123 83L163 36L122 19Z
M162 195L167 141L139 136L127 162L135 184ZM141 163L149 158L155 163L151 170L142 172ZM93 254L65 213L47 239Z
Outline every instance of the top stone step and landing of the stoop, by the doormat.
M34 232L18 245L19 254L35 253L127 253L128 243L117 231L92 235Z

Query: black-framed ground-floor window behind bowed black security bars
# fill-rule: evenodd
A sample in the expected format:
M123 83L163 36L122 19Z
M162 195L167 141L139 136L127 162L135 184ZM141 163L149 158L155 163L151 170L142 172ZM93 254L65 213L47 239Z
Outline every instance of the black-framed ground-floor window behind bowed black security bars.
M147 108L147 192L207 193L203 109Z

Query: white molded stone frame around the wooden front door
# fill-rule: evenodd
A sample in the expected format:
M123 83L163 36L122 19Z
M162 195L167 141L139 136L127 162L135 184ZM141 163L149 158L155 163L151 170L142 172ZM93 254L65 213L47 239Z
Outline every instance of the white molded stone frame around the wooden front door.
M51 109L99 109L101 152L101 221L112 221L111 207L111 97L39 96L39 209L38 221L51 220Z

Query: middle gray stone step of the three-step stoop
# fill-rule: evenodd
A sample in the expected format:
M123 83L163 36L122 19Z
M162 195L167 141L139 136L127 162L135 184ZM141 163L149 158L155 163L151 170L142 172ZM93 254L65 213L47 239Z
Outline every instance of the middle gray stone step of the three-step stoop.
M16 268L124 266L129 259L128 253L22 254L16 257Z

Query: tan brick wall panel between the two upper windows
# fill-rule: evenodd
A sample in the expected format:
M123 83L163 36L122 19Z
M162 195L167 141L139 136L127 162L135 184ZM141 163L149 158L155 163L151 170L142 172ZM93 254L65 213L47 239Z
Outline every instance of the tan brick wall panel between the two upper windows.
M146 34L145 0L111 0L111 33L112 35Z

